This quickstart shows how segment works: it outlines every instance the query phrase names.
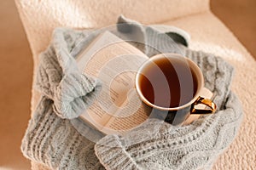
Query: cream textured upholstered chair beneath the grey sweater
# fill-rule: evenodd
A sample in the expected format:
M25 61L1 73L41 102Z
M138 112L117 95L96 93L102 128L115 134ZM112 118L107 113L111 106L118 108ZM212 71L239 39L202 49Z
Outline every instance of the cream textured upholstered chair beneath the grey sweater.
M108 26L119 14L144 24L177 26L191 35L190 48L222 56L236 69L232 85L241 99L244 120L240 133L230 148L215 162L213 169L253 169L256 167L256 61L224 24L208 8L208 1L135 0L106 1L39 1L16 0L26 29L37 68L38 54L43 51L57 26L90 28ZM39 94L32 89L32 112ZM32 169L40 165L32 162Z

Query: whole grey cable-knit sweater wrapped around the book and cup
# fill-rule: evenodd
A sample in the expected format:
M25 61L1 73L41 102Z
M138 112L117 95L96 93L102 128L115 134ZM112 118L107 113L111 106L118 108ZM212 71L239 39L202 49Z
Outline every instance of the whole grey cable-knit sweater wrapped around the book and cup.
M242 111L230 91L233 68L212 54L192 51L179 32L160 33L150 26L119 18L122 38L143 42L148 56L178 53L194 60L214 93L218 111L184 127L148 119L123 136L103 136L91 127L83 136L70 119L78 117L95 99L101 84L79 72L75 57L101 31L59 28L49 48L40 55L35 88L42 93L22 140L21 150L32 161L53 169L209 169L236 137ZM136 36L129 36L136 35ZM137 43L132 43L137 45ZM95 144L89 136L100 139ZM102 138L103 137L103 138Z

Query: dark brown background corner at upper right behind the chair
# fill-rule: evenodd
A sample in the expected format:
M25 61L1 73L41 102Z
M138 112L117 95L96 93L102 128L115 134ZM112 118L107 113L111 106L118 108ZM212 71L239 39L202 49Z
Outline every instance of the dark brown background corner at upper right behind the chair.
M213 14L233 31L256 59L256 1L210 0L210 2Z

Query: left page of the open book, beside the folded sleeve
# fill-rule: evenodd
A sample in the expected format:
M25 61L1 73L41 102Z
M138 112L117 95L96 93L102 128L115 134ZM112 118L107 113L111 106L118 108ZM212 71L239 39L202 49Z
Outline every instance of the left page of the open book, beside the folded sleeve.
M129 116L127 111L139 110L141 103L135 106L129 95L136 92L136 71L147 59L140 50L108 31L97 37L88 49L79 54L78 65L84 74L97 77L102 82L102 92L80 117L102 130L117 111L119 115Z

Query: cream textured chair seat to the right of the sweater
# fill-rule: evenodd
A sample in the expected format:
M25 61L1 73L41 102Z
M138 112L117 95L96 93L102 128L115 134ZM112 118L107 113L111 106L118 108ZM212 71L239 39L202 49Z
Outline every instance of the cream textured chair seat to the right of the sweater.
M256 147L253 144L256 138L253 133L253 129L256 127L254 124L256 117L253 115L254 108L250 106L253 105L256 96L255 91L253 91L253 84L256 84L252 81L256 78L256 61L211 12L169 20L162 24L177 26L188 31L191 36L190 48L217 54L236 68L232 88L241 99L244 107L244 121L236 140L218 158L213 169L256 167L254 160ZM32 103L34 105L32 105L32 111L37 103L38 96L39 94L33 90ZM32 167L37 166L33 165ZM42 165L39 167L42 167Z

